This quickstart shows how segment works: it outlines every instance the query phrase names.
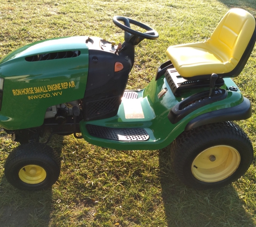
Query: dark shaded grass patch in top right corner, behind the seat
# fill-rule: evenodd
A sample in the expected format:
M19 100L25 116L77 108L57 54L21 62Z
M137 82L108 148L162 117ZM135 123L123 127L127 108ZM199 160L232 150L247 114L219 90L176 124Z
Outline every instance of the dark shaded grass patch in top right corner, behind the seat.
M229 8L243 8L249 12L251 12L254 16L256 16L256 2L255 0L218 0L222 2Z

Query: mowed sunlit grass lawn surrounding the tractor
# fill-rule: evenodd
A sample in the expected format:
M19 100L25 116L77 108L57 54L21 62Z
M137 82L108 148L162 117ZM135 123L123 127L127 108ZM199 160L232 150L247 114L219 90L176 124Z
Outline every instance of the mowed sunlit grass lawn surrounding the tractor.
M2 0L0 56L53 37L97 36L122 42L123 31L114 26L112 18L126 16L160 34L158 40L144 40L136 47L127 89L142 89L167 60L168 46L209 38L233 7L256 16L254 0ZM252 102L252 118L238 124L254 147L255 77L254 47L245 69L234 79ZM50 145L62 157L59 180L49 190L28 193L13 188L4 178L4 161L19 144L3 130L0 133L0 226L256 225L255 161L232 185L200 191L179 182L168 147L160 151L116 151L73 136L54 136Z

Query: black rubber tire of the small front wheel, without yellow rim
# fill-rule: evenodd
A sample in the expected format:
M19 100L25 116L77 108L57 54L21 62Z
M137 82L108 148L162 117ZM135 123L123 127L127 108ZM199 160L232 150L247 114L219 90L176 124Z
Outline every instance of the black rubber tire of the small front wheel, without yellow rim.
M19 172L25 166L36 165L44 169L46 177L39 183L27 183L19 177ZM52 147L40 144L22 144L9 154L4 165L5 178L12 186L36 191L50 188L59 178L60 155Z

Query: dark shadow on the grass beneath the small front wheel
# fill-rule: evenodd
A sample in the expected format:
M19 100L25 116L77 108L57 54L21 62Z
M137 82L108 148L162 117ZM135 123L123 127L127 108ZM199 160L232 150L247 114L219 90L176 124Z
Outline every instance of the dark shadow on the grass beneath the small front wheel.
M54 139L53 139L54 140ZM58 146L51 141L50 146L61 153L63 140ZM3 176L0 179L0 226L49 226L52 209L52 189L42 191L22 191L10 185Z

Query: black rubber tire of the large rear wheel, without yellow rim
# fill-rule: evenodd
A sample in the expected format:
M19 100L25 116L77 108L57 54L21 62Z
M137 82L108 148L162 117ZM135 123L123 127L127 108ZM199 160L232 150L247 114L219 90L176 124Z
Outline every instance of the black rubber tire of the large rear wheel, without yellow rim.
M223 180L198 180L192 173L192 162L202 154L201 152L213 146L229 146L236 149L240 155L240 163L237 169ZM218 188L236 181L245 174L253 160L253 147L238 125L233 122L213 123L180 134L171 144L171 158L176 175L186 186L195 189ZM193 167L197 168L195 165Z

